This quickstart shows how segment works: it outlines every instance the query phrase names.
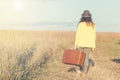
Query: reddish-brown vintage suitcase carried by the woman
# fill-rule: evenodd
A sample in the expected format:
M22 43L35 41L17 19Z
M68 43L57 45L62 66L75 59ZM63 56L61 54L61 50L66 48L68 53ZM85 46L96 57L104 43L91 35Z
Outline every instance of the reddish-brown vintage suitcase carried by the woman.
M71 65L83 66L85 60L85 53L80 50L66 49L64 50L62 62Z

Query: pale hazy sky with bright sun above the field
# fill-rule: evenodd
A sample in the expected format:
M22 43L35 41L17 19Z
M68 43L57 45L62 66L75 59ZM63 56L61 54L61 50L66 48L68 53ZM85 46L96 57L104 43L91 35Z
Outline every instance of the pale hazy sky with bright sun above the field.
M120 0L0 0L0 29L76 30L84 10L99 32L120 32Z

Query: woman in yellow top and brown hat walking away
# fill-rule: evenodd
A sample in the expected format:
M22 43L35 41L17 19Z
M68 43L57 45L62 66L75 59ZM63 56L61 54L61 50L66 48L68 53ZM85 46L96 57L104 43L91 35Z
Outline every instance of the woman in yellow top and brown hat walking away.
M96 27L91 16L88 10L83 12L75 37L75 48L86 53L85 62L82 66L82 70L86 74L90 66L89 54L94 50L96 40ZM81 66L77 66L77 72L80 69Z

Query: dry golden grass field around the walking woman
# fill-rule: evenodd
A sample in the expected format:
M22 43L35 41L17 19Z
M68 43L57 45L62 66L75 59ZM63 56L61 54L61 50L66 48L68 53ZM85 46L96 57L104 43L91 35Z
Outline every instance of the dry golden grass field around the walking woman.
M76 73L68 72L74 66L62 63L74 38L74 31L0 30L0 80L75 80ZM87 78L120 80L120 33L98 32L96 45Z

